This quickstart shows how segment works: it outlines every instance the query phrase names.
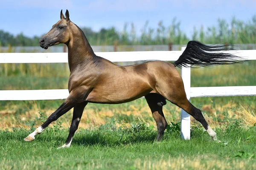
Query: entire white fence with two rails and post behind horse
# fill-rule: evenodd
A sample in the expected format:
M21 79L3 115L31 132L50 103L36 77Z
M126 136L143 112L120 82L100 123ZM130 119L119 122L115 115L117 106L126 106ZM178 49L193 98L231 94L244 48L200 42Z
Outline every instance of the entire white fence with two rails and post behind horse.
M185 48L182 48L182 51ZM132 61L176 61L182 51L138 51L138 52L98 52L96 55L112 62ZM244 60L256 60L256 50L229 51ZM0 63L67 63L67 53L0 53ZM187 98L209 96L256 96L256 86L233 87L190 87L190 68L182 68L181 74ZM0 100L47 100L66 99L67 89L57 90L2 90ZM181 111L181 136L190 139L190 116Z

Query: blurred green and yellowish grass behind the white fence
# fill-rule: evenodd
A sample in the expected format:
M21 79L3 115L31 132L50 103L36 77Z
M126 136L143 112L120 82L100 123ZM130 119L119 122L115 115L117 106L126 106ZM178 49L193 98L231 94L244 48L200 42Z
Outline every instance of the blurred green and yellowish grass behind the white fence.
M38 66L38 67L37 67ZM60 63L54 65L35 65L34 72L23 75L20 71L8 72L8 76L0 76L1 90L28 90L28 89L64 89L67 88L68 75L58 68L63 68ZM18 65L17 65L17 68ZM248 61L243 64L221 65L213 68L192 69L192 87L202 86L238 86L256 85L256 61ZM38 70L37 70L38 69ZM59 73L61 72L61 73ZM39 74L42 73L42 74ZM52 75L52 76L51 76ZM66 75L66 76L65 76ZM12 127L29 128L32 124L41 125L37 118L38 112L44 112L49 116L64 100L40 100L40 101L1 101L0 129ZM230 119L240 119L245 125L256 123L256 96L236 97L203 97L192 98L191 102L200 108L207 121L213 127L223 124L224 115ZM170 102L164 106L167 122L177 122L180 119L180 108ZM147 125L155 125L151 111L145 99L137 99L133 102L121 105L88 104L81 119L80 127L88 128L100 126L116 118L132 122L146 122ZM64 127L70 126L72 111L60 118ZM192 119L194 121L194 119Z

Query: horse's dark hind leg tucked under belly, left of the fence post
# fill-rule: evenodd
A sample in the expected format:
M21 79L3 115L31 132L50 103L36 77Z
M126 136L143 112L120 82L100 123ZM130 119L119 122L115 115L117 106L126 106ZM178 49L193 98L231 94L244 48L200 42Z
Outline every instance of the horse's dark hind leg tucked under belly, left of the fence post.
M166 105L166 100L159 94L148 94L145 99L157 123L157 141L160 141L168 125L163 114L163 105Z

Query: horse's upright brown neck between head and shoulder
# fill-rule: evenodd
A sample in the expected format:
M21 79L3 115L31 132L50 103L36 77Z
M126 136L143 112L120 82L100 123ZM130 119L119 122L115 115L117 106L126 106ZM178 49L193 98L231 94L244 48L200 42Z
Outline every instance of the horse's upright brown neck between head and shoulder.
M77 66L90 64L94 57L96 57L81 29L75 24L71 28L72 35L70 42L67 44L70 71L74 70Z

